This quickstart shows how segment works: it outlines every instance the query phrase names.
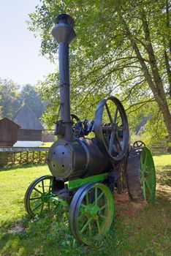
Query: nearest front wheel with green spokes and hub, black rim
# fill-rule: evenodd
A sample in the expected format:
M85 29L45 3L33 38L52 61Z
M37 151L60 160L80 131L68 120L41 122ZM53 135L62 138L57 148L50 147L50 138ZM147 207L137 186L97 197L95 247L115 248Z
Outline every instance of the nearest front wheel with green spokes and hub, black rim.
M113 222L114 201L104 184L89 183L77 189L69 208L69 226L84 244L101 240Z

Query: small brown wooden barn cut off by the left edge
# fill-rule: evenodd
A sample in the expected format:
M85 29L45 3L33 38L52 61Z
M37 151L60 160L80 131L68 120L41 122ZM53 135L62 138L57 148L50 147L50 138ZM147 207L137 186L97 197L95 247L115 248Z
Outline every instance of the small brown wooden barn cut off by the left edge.
M20 125L7 117L0 120L0 146L13 146L18 140Z

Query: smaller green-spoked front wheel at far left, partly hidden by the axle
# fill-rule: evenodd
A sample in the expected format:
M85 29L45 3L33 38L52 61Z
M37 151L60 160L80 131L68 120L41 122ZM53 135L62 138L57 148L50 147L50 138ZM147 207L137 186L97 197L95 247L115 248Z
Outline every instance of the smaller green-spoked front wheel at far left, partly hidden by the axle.
M56 202L50 200L52 194L53 176L41 176L35 179L24 197L25 208L31 217L41 215L48 211L54 211L57 207Z

